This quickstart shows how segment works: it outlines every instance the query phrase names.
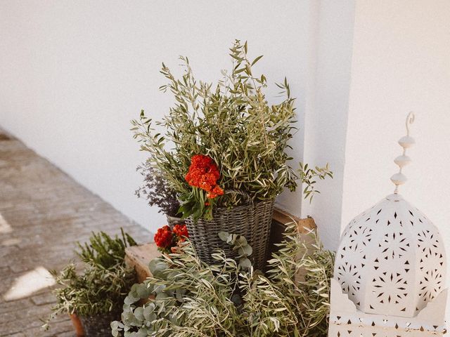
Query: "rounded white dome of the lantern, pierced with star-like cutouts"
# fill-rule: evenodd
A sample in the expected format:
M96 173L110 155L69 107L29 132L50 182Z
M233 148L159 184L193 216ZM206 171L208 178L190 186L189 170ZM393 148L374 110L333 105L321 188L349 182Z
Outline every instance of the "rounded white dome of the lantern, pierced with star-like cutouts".
M391 194L342 234L335 279L356 308L413 317L444 289L442 237L423 213Z

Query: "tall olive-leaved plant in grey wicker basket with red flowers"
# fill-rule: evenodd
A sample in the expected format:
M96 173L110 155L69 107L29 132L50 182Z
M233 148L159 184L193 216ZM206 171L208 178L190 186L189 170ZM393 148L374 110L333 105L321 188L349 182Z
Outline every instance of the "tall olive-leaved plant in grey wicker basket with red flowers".
M264 269L275 197L285 187L295 190L302 171L285 152L295 131L295 98L285 79L277 84L285 98L269 104L266 77L252 70L262 56L250 60L247 43L238 40L230 51L231 72L223 71L217 86L196 80L188 58L180 58L180 79L163 64L169 83L161 89L176 100L157 122L166 131L156 132L143 110L131 130L181 200L198 256L213 263L219 247L232 256L217 232L235 232L248 238L252 263ZM320 178L331 176L328 167L317 169Z

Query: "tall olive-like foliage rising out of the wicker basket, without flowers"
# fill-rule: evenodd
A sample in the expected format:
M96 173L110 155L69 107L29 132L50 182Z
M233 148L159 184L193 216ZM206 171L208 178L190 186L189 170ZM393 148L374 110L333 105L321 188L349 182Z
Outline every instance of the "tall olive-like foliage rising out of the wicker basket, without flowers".
M250 60L247 43L238 40L230 51L231 71L222 72L217 86L196 80L186 57L180 57L181 79L162 65L161 73L169 83L161 90L175 98L167 117L155 123L165 134L155 131L153 120L143 110L139 119L131 121L141 150L150 152L148 162L164 173L182 200L193 199L184 177L194 154L215 161L221 173L218 185L224 190L240 190L264 200L276 197L284 187L297 187L297 173L288 164L292 158L285 152L296 131L295 99L288 81L277 84L285 98L270 105L264 95L266 77L252 70L262 56ZM238 194L224 194L216 206L236 206L243 201ZM204 208L204 203L197 206Z

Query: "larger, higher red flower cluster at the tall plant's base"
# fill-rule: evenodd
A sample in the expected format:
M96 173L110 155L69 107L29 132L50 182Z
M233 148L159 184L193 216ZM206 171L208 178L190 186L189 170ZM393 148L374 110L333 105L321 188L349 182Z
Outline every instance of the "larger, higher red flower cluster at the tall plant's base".
M219 168L211 157L195 154L191 158L191 166L189 166L185 179L189 185L205 190L207 198L214 199L224 194L224 190L217 185L219 178Z

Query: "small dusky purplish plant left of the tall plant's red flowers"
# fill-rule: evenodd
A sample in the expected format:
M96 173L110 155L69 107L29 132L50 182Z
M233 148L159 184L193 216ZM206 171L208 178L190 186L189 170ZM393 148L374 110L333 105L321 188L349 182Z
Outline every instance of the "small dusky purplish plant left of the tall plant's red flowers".
M177 216L180 203L176 191L169 185L164 173L158 167L152 166L151 161L138 166L137 171L143 176L144 184L136 190L136 196L147 199L150 206L158 206L159 212L165 213L170 227L184 224L184 220Z

